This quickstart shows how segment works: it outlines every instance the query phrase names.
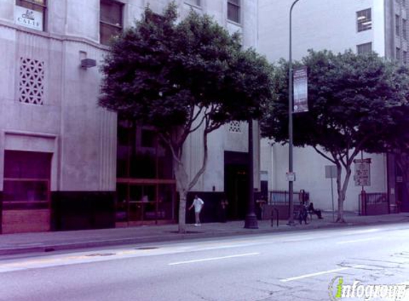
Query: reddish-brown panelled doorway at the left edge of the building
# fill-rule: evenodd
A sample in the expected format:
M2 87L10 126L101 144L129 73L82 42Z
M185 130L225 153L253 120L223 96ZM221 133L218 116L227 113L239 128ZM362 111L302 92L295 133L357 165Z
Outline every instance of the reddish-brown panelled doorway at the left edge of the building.
M1 233L50 230L51 153L4 152Z

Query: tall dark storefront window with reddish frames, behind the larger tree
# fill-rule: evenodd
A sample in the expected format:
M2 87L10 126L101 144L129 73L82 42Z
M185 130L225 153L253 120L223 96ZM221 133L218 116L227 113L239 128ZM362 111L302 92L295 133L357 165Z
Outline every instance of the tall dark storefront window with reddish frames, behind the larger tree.
M116 221L138 224L174 219L171 152L156 131L118 121Z

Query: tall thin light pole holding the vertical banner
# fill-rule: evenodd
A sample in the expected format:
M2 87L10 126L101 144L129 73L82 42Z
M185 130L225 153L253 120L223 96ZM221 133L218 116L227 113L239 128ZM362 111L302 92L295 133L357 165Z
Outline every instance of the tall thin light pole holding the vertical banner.
M292 49L292 14L293 8L300 0L296 0L291 4L290 9L290 42L288 53L288 206L289 214L287 225L295 225L294 223L294 186L293 181L293 49Z

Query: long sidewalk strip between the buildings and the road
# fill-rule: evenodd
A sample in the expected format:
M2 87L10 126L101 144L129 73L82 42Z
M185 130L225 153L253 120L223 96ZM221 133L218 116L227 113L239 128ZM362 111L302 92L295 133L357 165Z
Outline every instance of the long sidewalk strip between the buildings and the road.
M191 238L216 238L229 235L251 235L262 233L282 233L284 231L308 230L317 228L339 228L355 225L379 225L385 223L409 223L409 213L392 215L359 216L345 213L346 224L333 223L332 213L323 213L323 220L313 216L308 225L291 227L286 220L276 221L271 227L270 220L258 220L258 229L244 229L243 221L228 223L205 223L201 227L186 225L188 233L177 233L178 225L149 225L133 228L101 230L76 230L46 233L21 233L0 235L0 255L16 255L29 252L49 252L54 250L73 250L136 243L155 243Z

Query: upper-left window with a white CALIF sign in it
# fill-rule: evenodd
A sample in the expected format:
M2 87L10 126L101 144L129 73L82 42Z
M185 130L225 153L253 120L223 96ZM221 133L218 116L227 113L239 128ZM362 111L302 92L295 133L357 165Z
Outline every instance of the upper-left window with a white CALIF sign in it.
M46 0L16 0L14 21L29 29L44 31L46 8Z

